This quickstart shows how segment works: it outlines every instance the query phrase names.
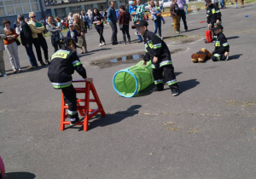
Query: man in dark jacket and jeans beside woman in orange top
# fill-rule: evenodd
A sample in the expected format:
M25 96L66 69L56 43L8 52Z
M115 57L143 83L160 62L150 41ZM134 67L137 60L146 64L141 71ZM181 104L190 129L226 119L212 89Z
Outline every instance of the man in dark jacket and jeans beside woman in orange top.
M19 14L17 16L17 20L20 23L20 39L22 45L26 49L26 54L28 55L28 59L30 61L31 66L28 66L28 69L36 68L38 67L38 62L36 60L36 57L34 55L33 49L32 49L32 32L30 27L26 24L26 21L24 21L24 16L22 14Z

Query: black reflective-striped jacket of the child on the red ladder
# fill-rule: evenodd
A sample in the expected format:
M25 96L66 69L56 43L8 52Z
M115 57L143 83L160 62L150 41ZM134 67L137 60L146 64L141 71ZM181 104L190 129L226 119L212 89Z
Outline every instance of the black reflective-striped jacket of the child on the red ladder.
M48 77L55 89L63 89L72 84L72 74L76 70L86 78L84 66L79 61L77 52L63 47L51 55Z

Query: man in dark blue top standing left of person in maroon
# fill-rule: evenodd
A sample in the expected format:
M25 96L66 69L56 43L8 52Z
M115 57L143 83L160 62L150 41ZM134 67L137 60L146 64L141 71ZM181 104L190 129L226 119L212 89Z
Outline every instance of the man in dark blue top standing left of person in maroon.
M117 31L117 26L116 26L117 17L116 17L116 12L115 12L115 9L114 9L114 2L113 1L110 2L107 17L108 17L108 21L109 21L109 24L110 24L111 29L112 29L112 37L111 37L112 45L118 44L118 41L117 41L117 32L118 31Z

